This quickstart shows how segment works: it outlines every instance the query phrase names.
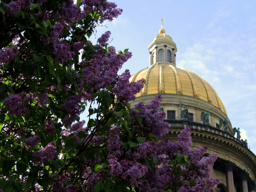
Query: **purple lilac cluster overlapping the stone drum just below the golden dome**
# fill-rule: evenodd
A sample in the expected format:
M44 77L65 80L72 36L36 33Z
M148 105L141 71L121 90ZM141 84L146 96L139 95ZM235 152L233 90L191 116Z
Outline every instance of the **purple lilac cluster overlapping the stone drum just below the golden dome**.
M149 133L152 133L156 137L161 138L168 132L169 124L163 121L165 119L165 112L158 111L161 100L162 96L157 95L148 105L144 105L143 102L135 105L134 109L139 108L143 112L132 109L134 117L142 118L142 131L147 131L145 133L142 132L142 135L147 136ZM132 123L136 125L138 123L137 119L133 118Z

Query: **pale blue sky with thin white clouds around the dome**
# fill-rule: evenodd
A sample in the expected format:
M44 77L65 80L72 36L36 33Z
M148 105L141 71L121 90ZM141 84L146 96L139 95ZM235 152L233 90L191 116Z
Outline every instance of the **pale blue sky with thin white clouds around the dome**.
M176 42L176 65L198 74L215 89L232 127L240 127L256 153L256 2L229 0L113 0L123 13L90 40L111 31L110 44L129 48L123 65L131 74L149 66L147 46L159 33Z

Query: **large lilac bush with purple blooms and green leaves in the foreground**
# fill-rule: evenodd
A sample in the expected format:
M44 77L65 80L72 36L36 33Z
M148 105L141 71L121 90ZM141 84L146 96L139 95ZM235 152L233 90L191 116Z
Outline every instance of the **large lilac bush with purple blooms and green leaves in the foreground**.
M213 191L217 155L191 150L188 127L158 141L161 96L131 109L145 80L118 74L132 53L109 46L110 31L89 41L122 13L115 3L3 0L0 11L0 191Z

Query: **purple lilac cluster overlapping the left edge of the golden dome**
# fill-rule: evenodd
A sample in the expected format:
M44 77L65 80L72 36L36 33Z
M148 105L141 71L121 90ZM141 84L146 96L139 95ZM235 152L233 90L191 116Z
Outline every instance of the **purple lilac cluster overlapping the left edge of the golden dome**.
M129 82L130 77L130 72L127 69L118 77L114 92L119 102L128 103L131 100L134 101L136 98L135 94L140 92L146 83L145 79L141 79L137 82Z

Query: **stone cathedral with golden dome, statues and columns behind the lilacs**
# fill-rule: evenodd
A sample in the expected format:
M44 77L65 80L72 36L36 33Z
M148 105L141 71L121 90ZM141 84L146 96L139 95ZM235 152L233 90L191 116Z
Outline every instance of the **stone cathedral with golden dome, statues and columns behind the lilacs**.
M225 107L209 83L197 74L176 66L177 47L163 26L148 46L149 66L132 75L130 81L146 80L144 88L131 102L150 103L156 94L163 96L161 111L169 123L168 138L175 142L184 127L191 128L192 146L208 146L218 158L211 176L220 179L216 192L255 192L256 156L233 128Z

